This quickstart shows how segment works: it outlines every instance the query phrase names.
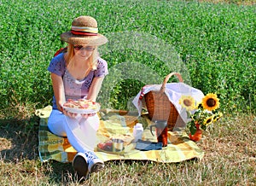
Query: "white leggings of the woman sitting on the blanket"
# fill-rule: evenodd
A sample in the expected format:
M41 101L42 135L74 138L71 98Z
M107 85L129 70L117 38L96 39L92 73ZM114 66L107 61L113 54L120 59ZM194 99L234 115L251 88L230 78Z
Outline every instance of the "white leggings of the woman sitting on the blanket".
M49 131L57 136L67 137L73 148L81 153L94 151L99 125L97 114L88 119L83 119L80 115L72 119L59 110L52 110L48 119Z

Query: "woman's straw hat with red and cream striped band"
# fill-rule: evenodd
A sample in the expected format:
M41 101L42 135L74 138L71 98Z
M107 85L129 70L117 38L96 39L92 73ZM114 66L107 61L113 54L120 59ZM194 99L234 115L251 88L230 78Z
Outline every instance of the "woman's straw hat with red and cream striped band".
M97 21L90 16L79 16L72 22L71 31L61 34L61 40L78 45L106 44L108 38L98 33Z

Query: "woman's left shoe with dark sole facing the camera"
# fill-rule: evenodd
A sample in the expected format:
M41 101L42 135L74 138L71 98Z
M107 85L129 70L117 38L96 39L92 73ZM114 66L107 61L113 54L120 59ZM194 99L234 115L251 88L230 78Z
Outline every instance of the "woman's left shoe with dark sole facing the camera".
M88 163L85 154L78 153L73 159L73 169L80 179L86 179L89 174Z

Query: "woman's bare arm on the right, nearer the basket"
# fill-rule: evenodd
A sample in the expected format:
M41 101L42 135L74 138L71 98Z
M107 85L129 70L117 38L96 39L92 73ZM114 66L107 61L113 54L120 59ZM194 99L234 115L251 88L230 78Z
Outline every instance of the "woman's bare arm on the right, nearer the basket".
M105 77L96 77L93 78L92 83L90 85L90 90L87 96L88 100L91 100L93 102L96 102L96 98L102 88L102 82Z

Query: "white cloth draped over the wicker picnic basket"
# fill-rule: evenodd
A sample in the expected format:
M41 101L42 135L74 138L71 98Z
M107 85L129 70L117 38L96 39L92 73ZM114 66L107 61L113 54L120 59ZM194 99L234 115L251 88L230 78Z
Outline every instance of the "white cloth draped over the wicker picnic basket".
M143 86L143 89L137 94L137 96L133 99L132 103L137 108L139 115L142 113L143 110L143 97L149 91L159 91L162 84L148 84ZM184 83L170 83L166 84L165 90L166 96L169 98L170 102L174 105L177 109L177 112L181 119L185 123L189 120L187 118L187 113L184 108L178 103L181 96L192 96L195 99L195 102L201 102L201 99L204 97L204 94L201 90L195 89L188 84Z

